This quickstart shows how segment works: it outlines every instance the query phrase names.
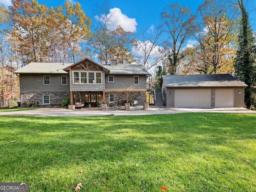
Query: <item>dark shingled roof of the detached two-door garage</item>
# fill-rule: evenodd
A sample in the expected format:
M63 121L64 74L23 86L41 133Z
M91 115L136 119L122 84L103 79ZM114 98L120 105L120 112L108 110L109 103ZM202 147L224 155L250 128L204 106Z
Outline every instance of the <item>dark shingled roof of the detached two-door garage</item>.
M230 74L162 75L165 87L247 87Z

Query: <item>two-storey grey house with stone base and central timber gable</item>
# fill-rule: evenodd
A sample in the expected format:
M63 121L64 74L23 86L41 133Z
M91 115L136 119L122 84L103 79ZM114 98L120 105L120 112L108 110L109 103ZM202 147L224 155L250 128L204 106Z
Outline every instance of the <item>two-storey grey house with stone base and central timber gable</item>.
M146 81L150 73L142 65L100 65L85 58L72 63L30 63L15 72L20 78L21 105L60 105L83 101L118 105L118 100L146 102Z

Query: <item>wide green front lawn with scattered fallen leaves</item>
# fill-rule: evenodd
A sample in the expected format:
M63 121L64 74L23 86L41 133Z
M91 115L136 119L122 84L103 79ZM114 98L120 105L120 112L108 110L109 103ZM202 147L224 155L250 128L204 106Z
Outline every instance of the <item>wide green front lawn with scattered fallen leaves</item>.
M0 151L30 192L256 191L253 114L1 116Z

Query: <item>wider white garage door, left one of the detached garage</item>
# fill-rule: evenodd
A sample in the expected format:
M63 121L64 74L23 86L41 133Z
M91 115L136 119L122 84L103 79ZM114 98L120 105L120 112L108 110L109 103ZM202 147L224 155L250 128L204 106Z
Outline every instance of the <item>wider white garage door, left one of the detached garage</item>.
M175 89L175 107L211 107L211 89Z

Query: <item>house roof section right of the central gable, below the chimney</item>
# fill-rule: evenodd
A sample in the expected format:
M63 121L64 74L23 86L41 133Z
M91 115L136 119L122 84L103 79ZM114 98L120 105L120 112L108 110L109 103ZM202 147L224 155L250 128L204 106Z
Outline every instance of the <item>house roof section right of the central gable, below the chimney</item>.
M132 74L132 75L150 75L142 65L102 65L110 70L109 75Z

